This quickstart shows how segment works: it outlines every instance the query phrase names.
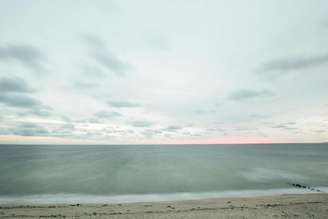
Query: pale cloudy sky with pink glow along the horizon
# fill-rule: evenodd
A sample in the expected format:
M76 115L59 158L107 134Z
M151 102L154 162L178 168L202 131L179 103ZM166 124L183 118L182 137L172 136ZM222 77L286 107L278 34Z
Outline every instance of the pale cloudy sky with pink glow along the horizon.
M0 144L328 141L328 1L0 2Z

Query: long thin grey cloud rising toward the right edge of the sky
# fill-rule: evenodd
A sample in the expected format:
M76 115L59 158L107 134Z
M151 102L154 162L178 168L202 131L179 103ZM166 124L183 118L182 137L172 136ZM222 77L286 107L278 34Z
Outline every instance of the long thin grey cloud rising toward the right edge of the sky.
M317 55L314 57L287 57L264 62L263 64L260 64L260 66L254 70L254 72L266 73L271 71L280 71L282 73L286 73L289 70L309 68L324 63L328 63L328 54Z

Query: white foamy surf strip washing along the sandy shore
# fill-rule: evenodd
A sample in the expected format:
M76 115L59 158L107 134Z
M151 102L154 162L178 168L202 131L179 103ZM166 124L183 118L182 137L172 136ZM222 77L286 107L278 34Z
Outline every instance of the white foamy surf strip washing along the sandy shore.
M318 188L328 191L328 188ZM159 201L197 200L204 198L223 197L252 197L269 196L276 194L305 194L315 193L311 190L299 188L281 188L271 190L241 190L226 192L178 192L169 194L126 194L116 196L91 195L91 194L38 194L27 196L0 196L1 205L26 205L26 204L72 204L72 203L138 203Z

